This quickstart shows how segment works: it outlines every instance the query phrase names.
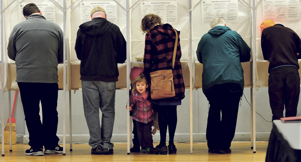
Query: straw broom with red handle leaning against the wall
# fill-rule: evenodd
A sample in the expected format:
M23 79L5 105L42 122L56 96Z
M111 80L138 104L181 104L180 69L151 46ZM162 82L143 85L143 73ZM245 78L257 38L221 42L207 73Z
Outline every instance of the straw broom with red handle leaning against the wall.
M17 92L15 92L13 111L11 112L11 144L15 145L17 142L17 134L16 134L16 119L14 118L14 110L17 99ZM9 144L9 118L7 119L7 123L4 129L4 144Z

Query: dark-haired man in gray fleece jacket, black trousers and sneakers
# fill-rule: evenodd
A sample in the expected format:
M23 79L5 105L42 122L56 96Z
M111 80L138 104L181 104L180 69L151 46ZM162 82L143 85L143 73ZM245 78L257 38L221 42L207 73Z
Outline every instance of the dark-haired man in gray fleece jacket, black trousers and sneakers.
M24 6L23 15L27 19L11 31L7 50L8 57L16 62L16 82L29 132L31 148L25 154L62 153L56 135L56 107L59 90L57 66L63 63L63 32L59 25L47 21L33 3ZM39 115L40 101L43 124Z

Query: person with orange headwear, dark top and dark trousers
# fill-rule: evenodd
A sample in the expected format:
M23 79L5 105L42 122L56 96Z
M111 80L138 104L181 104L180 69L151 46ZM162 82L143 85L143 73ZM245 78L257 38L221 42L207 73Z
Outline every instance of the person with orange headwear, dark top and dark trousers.
M298 55L301 40L293 30L266 20L261 24L263 58L269 60L268 93L272 120L296 116L300 94Z

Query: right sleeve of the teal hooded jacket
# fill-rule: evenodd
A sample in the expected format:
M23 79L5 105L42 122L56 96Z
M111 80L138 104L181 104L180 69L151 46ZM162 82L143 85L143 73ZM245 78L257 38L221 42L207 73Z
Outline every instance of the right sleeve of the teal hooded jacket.
M249 62L251 58L251 49L247 43L242 39L242 37L235 31L233 31L237 37L237 45L239 48L239 58L240 62Z

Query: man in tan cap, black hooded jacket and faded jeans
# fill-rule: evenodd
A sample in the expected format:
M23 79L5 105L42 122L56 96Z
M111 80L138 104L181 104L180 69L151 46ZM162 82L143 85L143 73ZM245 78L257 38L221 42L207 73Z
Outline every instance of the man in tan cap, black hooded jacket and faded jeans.
M117 63L126 60L126 42L117 25L106 20L101 7L78 29L75 51L81 60L84 113L90 132L91 154L112 154ZM101 126L99 109L102 112Z

